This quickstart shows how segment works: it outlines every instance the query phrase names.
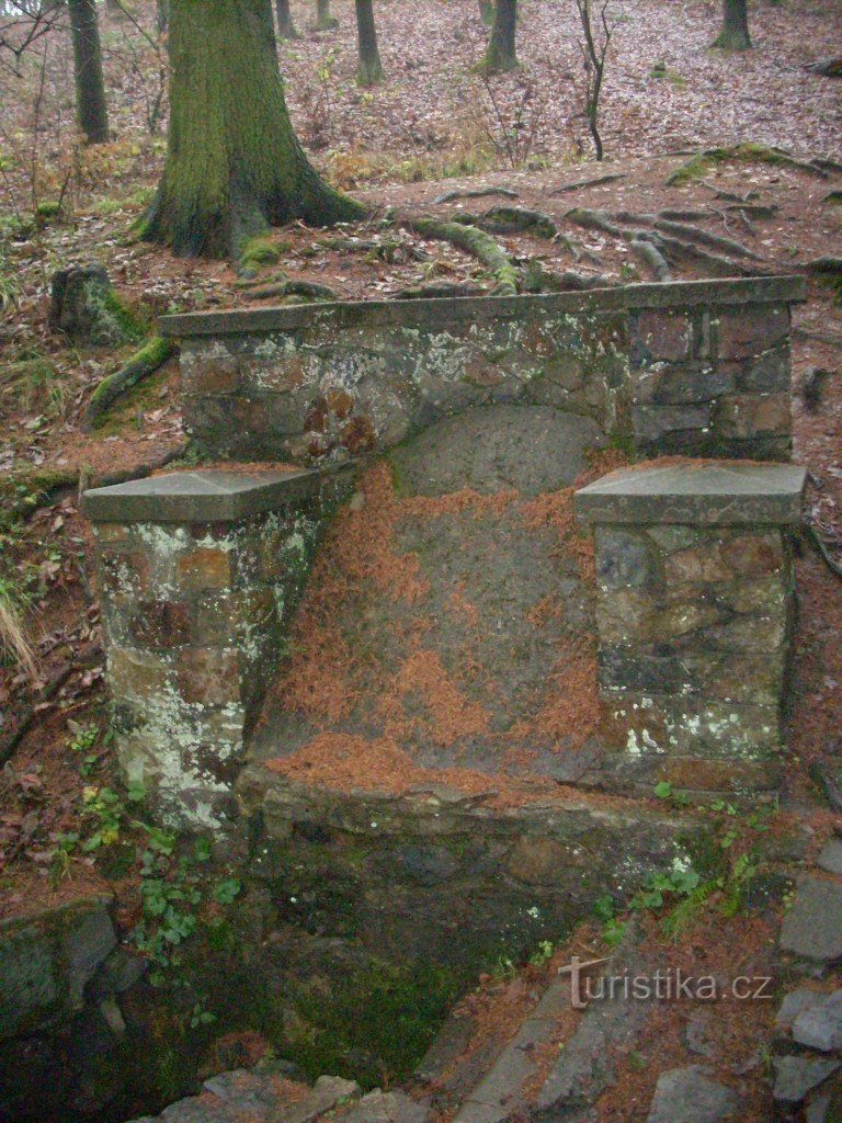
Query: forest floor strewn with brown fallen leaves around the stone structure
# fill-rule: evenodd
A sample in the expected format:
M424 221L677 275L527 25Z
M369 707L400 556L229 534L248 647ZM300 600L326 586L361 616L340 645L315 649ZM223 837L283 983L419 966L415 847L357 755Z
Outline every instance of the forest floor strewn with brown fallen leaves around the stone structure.
M576 27L560 4L524 6L523 69L491 88L469 72L485 34L474 0L384 4L378 20L387 81L370 92L351 81L350 8L335 7L339 30L313 34L305 30L309 8L293 3L304 37L282 46L282 69L304 144L333 182L375 208L375 218L341 231L342 246L336 231L274 231L278 259L264 271L266 281L282 271L354 300L391 299L431 282L491 289L475 259L405 229L385 229L378 220L386 207L437 217L484 209L503 200L437 200L454 190L501 186L516 193L516 206L548 213L569 240L523 234L497 240L516 259L537 257L556 273L575 270L610 283L651 280L624 238L580 227L568 216L574 207L610 216L695 211L696 225L749 247L759 272L798 273L812 258L840 254L842 207L829 199L842 185L835 173L756 159L743 149L711 161L685 182L667 182L687 159L679 148L751 143L778 145L802 159L842 158L842 83L802 69L839 53L838 4L791 0L752 8L756 49L729 57L706 49L719 4L629 0L606 84L610 158L602 165L589 159L578 108ZM48 83L39 101L33 98L35 69L21 80L3 75L0 90L0 600L19 610L35 656L33 670L13 654L0 667L0 916L101 884L107 865L100 860L107 844L85 852L67 842L73 833L90 840L103 823L98 795L119 791L79 489L154 468L185 442L174 360L118 403L93 433L81 431L90 394L130 348L79 350L51 335L52 272L70 262L101 261L120 298L149 327L166 311L260 303L226 263L176 261L131 243L130 222L148 200L163 158L161 137L149 137L144 120L155 100L156 56L125 28L107 28L106 38L109 88L119 91L112 145L84 150L73 143L64 42L45 47ZM658 63L666 76L652 75ZM17 91L13 98L10 91ZM607 174L619 177L557 193ZM38 204L62 197L63 188L60 213L36 219ZM762 213L749 213L730 197ZM367 244L364 252L348 248L351 237ZM698 262L674 270L676 280L704 275ZM809 276L808 286L808 301L794 319L795 458L811 473L808 513L839 559L842 304L826 281ZM808 769L840 747L842 586L805 547L798 587L793 754L781 806L812 832L811 849L817 849L838 825ZM18 738L21 723L26 731ZM130 837L125 822L121 829ZM117 888L130 916L136 887ZM740 924L735 917L732 931L740 932ZM747 938L750 929L747 922ZM687 953L704 940L704 929L695 928ZM631 1116L606 1107L605 1117Z

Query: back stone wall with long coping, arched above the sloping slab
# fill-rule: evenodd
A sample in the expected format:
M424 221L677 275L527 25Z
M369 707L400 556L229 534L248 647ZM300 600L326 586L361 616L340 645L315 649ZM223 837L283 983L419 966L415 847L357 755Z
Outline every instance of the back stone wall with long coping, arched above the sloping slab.
M213 455L318 460L489 402L595 418L653 456L786 459L796 277L164 317Z

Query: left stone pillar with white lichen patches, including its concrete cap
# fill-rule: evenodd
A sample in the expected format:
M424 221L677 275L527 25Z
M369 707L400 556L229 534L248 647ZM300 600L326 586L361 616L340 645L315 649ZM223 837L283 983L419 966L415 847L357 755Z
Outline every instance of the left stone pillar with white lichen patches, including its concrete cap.
M117 754L173 825L230 810L341 476L190 472L85 494Z

